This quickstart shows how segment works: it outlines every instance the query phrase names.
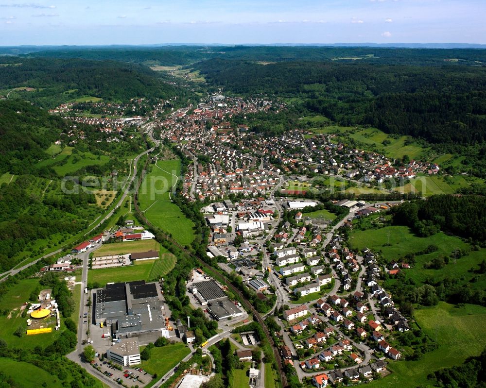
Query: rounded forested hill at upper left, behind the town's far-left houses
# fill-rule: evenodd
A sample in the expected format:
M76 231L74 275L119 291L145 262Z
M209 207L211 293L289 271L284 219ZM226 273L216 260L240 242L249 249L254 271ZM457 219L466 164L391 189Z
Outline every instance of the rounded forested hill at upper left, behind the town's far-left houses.
M0 59L0 89L30 87L25 98L43 107L81 96L105 101L168 99L180 94L148 67L115 61L56 58Z

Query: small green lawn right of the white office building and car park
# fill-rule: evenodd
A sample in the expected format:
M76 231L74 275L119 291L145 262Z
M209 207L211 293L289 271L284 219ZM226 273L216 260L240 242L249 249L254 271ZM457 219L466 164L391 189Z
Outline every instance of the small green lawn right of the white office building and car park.
M144 348L144 346L141 346L140 352ZM158 377L162 377L190 353L189 348L181 342L154 348L150 353L150 359L142 361L141 368L151 374L157 373Z

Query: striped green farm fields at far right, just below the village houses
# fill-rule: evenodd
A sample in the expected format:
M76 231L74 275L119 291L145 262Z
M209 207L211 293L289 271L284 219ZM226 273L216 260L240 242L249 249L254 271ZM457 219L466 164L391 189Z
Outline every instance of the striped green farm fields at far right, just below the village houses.
M474 183L484 183L481 178L469 175L430 175L421 176L410 180L405 186L399 186L395 190L404 193L420 192L429 197L434 194L452 194L462 187L468 187Z

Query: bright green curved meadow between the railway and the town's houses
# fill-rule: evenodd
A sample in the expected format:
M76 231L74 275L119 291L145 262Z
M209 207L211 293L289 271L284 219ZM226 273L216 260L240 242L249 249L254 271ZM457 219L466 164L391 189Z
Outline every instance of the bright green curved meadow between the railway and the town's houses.
M170 199L171 187L180 175L180 160L159 160L140 186L140 208L155 226L170 233L175 240L187 245L194 239L194 223L187 219Z

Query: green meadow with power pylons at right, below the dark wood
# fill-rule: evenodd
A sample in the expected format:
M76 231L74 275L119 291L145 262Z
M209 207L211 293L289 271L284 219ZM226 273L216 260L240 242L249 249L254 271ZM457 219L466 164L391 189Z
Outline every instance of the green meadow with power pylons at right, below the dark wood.
M390 246L388 244L388 236ZM435 257L453 256L455 249L470 248L469 244L462 241L459 237L449 236L445 233L437 233L429 237L417 237L406 226L387 226L381 229L368 229L365 231L354 230L351 232L349 240L352 249L363 249L368 247L372 251L382 251L382 256L388 260L399 260L407 253L423 251L429 245L434 244L439 249L434 253L422 254L415 257L416 263L410 270L405 270L407 277L413 278L417 283L422 283L426 279L439 281L448 277L471 279L476 277L477 281L470 283L473 288L486 287L486 274L470 273L471 268L481 263L485 257L486 250L471 251L456 260L451 260L440 270L424 269L423 265L430 262Z

